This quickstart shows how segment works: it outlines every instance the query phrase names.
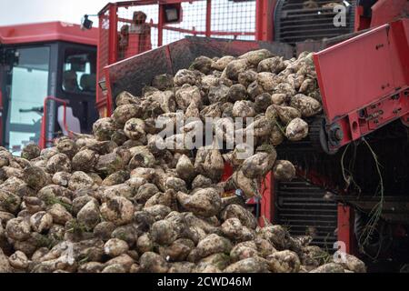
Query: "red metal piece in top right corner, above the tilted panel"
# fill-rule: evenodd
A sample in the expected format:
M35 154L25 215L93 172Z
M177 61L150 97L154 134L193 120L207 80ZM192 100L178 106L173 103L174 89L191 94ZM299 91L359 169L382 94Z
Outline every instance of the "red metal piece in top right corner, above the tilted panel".
M409 15L407 0L378 0L372 6L371 27L384 25Z

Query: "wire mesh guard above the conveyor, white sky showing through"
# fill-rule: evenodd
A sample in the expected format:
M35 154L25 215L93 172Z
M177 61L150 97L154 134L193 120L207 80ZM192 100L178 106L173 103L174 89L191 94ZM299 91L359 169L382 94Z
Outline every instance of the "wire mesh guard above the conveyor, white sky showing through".
M210 5L210 11L207 7ZM160 38L159 5L133 5L118 7L118 31L124 25L132 23L135 11L145 13L146 24L151 27L151 48L168 45L185 36L223 37L230 39L254 40L255 35L255 0L235 3L228 0L196 0L182 2L182 18L179 23L163 25ZM210 18L208 19L208 13ZM207 24L210 31L207 31ZM150 45L146 45L149 47Z

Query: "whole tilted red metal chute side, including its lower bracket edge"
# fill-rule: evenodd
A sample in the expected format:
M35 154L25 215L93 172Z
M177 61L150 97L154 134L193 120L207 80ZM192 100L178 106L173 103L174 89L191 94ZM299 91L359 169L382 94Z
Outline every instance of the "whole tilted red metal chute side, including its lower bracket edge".
M328 127L338 148L409 113L409 20L382 25L314 54Z

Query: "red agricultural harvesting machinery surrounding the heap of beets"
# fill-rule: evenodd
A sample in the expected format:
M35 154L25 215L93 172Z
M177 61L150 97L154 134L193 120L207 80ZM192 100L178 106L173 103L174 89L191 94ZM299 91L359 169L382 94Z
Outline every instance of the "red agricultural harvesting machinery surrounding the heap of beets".
M335 242L342 242L348 253L356 252L359 246L372 258L407 263L408 15L405 0L110 3L98 14L96 63L96 29L80 32L78 27L70 31L76 35L74 39L64 33L46 39L56 45L55 52L48 53L54 52L55 57L47 55L55 71L36 64L40 60L36 57L35 70L40 66L43 75L50 72L50 87L45 92L52 96L49 102L67 108L44 106L48 117L43 117L40 143L47 146L58 129L65 134L78 128L89 132L96 118L94 102L100 116L109 116L115 109L116 95L122 91L141 95L155 75L175 74L199 55L241 55L268 48L274 55L291 58L312 51L324 114L311 120L307 140L277 147L281 158L297 166L297 178L278 183L272 174L265 177L263 199L253 202L261 210L260 220L288 226L293 235L312 235L318 246L333 248ZM88 17L86 28L91 27ZM64 53L65 45L74 44L78 46L73 48L74 54ZM10 68L19 68L13 65L19 64L18 49L5 48L2 60L7 60L4 65L9 73L3 69L3 76L10 75ZM22 62L23 52L20 55ZM65 71L76 73L81 93L65 92ZM87 80L84 83L83 78ZM85 94L90 82L96 87ZM5 95L12 98L12 85L1 84L3 99ZM26 109L33 115L32 107L41 107L43 99L38 104L21 105L16 109L23 109L18 115L24 116ZM69 107L74 108L79 122L73 121ZM53 119L53 114L59 117ZM12 128L10 115L6 118L5 128ZM10 137L3 143L10 144ZM226 176L228 173L226 166ZM371 236L364 236L368 232ZM362 237L367 238L364 243Z

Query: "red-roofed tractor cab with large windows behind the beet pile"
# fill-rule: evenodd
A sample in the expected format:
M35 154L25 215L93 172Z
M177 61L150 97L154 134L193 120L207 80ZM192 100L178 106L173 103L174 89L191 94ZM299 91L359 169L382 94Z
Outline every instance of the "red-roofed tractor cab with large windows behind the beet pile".
M97 29L61 22L0 27L0 146L18 155L89 133L95 110Z

